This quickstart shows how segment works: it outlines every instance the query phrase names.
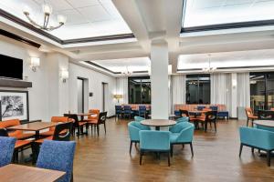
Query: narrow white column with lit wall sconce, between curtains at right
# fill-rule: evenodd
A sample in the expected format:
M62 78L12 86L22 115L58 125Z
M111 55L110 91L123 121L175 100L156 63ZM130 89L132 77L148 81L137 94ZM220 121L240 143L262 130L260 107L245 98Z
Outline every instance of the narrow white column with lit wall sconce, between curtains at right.
M231 74L231 117L237 117L237 74Z

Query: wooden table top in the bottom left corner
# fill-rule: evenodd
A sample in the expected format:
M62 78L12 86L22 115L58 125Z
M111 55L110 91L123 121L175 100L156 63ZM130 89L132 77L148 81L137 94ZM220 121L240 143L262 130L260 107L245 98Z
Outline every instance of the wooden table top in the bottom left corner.
M66 172L38 167L26 167L10 164L0 167L0 181L5 182L53 182L63 177Z

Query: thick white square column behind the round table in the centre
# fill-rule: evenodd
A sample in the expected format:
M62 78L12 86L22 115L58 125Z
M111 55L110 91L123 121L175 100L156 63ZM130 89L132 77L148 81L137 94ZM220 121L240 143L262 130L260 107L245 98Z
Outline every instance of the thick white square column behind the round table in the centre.
M165 40L153 40L152 60L152 118L168 119L168 45Z

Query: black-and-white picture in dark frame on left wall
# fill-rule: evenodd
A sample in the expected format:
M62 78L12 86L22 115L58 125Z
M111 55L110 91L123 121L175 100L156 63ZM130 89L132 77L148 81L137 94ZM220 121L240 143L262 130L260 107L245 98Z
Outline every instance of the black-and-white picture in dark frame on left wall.
M28 121L28 92L0 90L0 121L19 119Z

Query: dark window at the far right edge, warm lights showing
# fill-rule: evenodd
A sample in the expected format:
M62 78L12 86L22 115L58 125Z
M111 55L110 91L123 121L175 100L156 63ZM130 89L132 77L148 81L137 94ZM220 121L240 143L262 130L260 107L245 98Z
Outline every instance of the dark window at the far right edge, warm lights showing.
M255 112L274 107L274 72L250 73L250 106Z

